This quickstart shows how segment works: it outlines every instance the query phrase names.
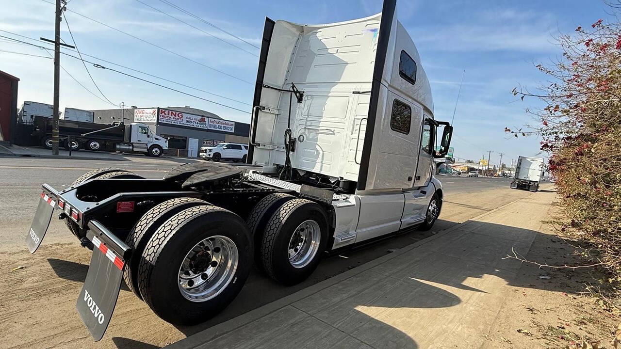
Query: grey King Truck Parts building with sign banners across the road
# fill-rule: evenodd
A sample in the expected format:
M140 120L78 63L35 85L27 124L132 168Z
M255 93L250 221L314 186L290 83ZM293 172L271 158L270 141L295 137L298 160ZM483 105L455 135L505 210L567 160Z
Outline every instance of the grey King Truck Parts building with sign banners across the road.
M142 122L153 132L168 138L168 154L198 156L200 147L217 143L248 143L250 125L224 120L212 112L191 107L104 109L94 112L94 122L112 124Z

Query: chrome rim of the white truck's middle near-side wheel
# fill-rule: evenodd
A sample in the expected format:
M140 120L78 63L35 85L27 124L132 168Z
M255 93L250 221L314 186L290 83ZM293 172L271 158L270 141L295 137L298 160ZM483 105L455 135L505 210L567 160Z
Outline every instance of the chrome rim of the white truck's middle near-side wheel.
M319 224L312 219L304 220L289 239L289 263L294 268L304 268L311 263L319 250L320 239Z

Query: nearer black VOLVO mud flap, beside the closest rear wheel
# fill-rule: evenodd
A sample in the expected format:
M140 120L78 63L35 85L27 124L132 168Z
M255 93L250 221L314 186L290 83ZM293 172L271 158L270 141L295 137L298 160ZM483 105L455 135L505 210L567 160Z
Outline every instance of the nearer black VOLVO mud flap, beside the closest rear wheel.
M93 257L76 309L95 341L104 337L119 297L125 260L130 248L95 220L86 237L93 242Z

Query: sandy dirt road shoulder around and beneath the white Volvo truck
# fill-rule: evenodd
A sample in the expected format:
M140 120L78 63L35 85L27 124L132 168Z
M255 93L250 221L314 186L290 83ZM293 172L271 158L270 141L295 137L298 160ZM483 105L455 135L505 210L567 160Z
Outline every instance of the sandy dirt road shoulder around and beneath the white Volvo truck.
M433 230L447 229L528 194L509 188L447 194ZM55 222L48 234L69 234L62 225ZM280 286L253 272L224 312L193 327L174 327L164 322L123 285L106 335L97 343L93 343L75 310L91 259L89 250L78 243L52 243L50 239L34 255L25 247L0 252L0 348L159 348L432 234L411 232L330 256L311 278L292 287Z

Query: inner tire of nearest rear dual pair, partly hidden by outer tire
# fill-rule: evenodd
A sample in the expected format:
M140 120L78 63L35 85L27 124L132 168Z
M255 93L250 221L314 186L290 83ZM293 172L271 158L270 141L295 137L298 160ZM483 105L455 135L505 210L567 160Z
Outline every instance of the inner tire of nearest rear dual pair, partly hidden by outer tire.
M188 209L189 207L207 204L207 201L197 199L196 197L176 197L175 199L161 202L153 206L140 217L134 229L130 230L127 238L125 238L125 243L132 248L132 255L124 269L123 279L125 280L125 284L127 284L127 288L134 292L139 299L142 299L142 296L138 290L138 262L140 261L140 255L142 255L142 251L150 237L160 225L178 212Z

